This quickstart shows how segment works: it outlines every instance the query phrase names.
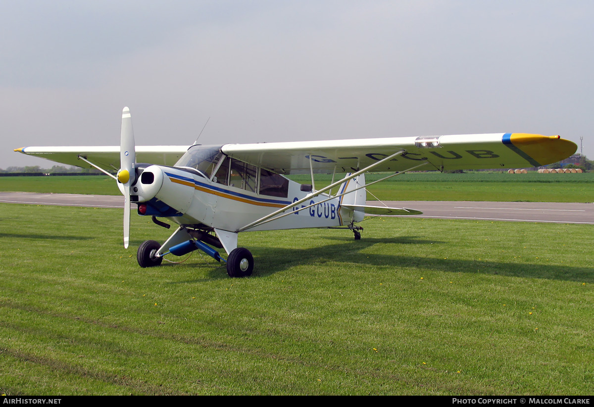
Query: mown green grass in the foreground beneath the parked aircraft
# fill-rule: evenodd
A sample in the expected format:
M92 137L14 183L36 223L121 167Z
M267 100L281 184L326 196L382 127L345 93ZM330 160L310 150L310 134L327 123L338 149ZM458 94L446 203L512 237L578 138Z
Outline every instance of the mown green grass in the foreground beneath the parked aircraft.
M592 227L375 218L254 232L254 276L121 212L0 205L0 391L592 395ZM174 257L179 260L179 258Z

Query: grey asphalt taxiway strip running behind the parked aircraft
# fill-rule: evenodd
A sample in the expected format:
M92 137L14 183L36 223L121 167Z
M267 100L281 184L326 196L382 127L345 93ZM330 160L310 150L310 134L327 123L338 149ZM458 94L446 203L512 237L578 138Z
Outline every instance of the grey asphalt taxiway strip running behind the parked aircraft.
M123 208L124 197L116 195L73 195L67 193L0 192L0 202L30 205ZM369 205L380 206L378 201ZM594 225L594 203L563 202L465 202L385 201L387 206L422 211L413 218L467 219L511 222L553 222ZM132 204L135 209L135 205Z

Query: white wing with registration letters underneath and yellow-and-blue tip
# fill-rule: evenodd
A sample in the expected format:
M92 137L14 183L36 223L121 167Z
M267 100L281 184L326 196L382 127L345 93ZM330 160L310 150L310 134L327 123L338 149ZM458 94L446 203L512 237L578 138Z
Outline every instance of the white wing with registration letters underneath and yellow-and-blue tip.
M357 171L397 151L406 154L374 168L404 171L427 161L422 170L539 167L564 160L577 145L560 136L526 133L443 135L332 141L226 144L232 158L280 174Z

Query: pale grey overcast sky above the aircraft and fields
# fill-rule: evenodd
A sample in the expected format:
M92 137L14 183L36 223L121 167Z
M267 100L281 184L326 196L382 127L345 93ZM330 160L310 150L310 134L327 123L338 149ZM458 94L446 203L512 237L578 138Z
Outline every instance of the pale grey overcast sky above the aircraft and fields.
M528 132L594 158L593 1L0 0L14 148Z

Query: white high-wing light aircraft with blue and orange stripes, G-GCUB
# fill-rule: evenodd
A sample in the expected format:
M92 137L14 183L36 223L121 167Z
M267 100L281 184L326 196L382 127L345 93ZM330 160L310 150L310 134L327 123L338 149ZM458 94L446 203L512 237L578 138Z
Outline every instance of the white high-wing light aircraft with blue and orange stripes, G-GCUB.
M15 151L95 167L115 178L125 197L124 247L129 244L130 202L157 225L170 226L157 218L178 224L165 243L147 240L138 247L141 267L200 249L226 262L229 276L242 277L251 275L254 259L248 249L238 247L240 232L345 228L358 240L362 228L356 223L365 214L421 214L366 205L368 171L389 172L384 180L411 170L536 167L576 150L576 144L560 136L527 133L135 147L125 107L120 146ZM118 168L117 176L107 171ZM311 185L293 182L287 174L311 174ZM316 189L314 174L333 174L333 180ZM227 258L213 247L225 250Z

